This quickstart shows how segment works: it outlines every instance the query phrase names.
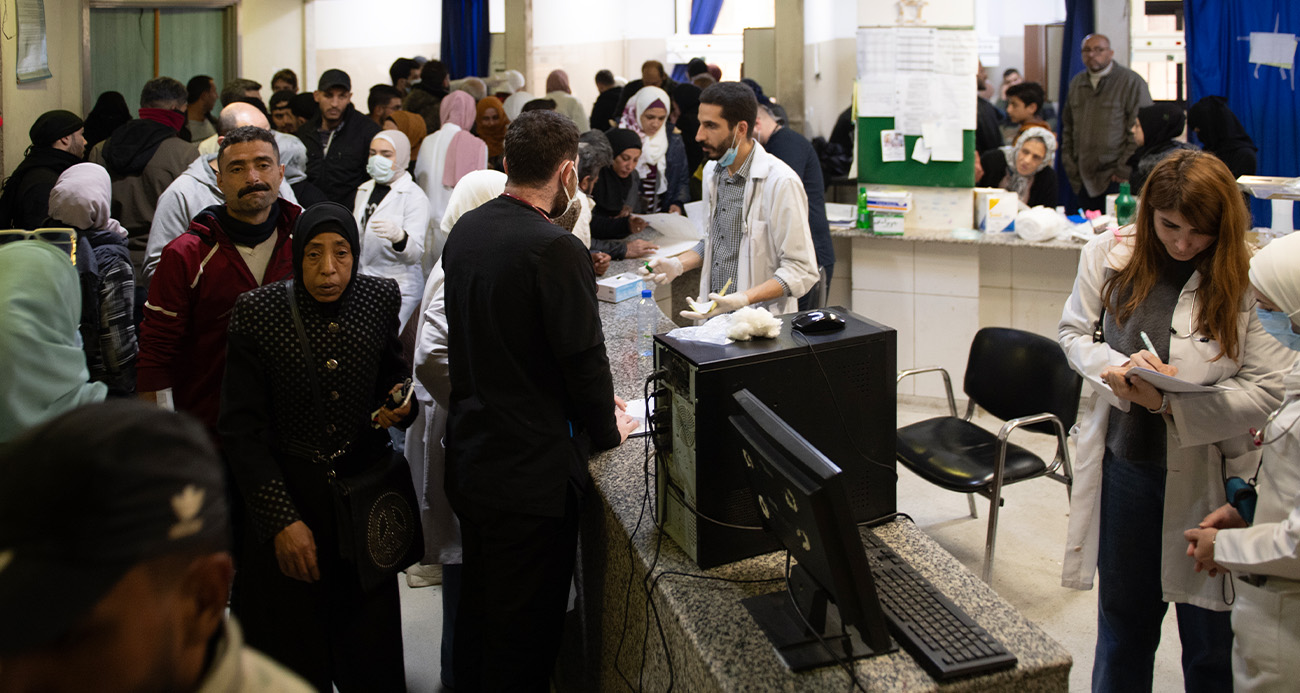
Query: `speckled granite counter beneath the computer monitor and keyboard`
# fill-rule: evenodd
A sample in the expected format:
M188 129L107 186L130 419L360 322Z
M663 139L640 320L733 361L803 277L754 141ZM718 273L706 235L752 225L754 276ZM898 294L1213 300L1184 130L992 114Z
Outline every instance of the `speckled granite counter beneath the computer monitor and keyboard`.
M612 263L610 272L632 269L634 260ZM606 350L615 394L642 397L650 364L638 359L636 300L601 303ZM672 321L660 315L660 330ZM793 673L740 599L784 589L784 553L766 554L701 571L654 524L654 464L649 438L632 438L594 458L595 490L582 519L577 568L577 608L571 614L560 664L562 690L619 690L629 685L663 690L670 677L680 690L844 690L837 667ZM1020 616L974 573L926 537L898 520L875 529L939 589L953 598L1019 658L1014 670L962 679L945 690L1065 690L1070 654L1039 627ZM629 538L630 537L630 538ZM647 569L656 582L646 589ZM668 575L685 573L685 575ZM689 576L760 582L724 582ZM653 599L647 602L646 594ZM653 606L651 606L653 605ZM658 627L655 621L658 620ZM659 628L663 629L664 646ZM858 679L868 690L937 690L902 650L859 660Z

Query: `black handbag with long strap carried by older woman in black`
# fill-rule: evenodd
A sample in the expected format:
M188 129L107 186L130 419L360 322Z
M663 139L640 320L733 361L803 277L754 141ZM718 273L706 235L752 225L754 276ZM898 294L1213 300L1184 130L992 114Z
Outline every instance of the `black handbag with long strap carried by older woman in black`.
M316 360L307 329L303 328L294 282L289 282L289 306L294 328L307 358L307 376L312 398L321 421L325 420L325 399L316 377ZM356 564L361 589L370 590L391 580L408 566L424 556L424 530L420 527L420 506L416 503L411 468L391 441L373 459L356 472L339 473L334 468L335 456L316 455L329 467L326 472L334 489L334 512L338 517L339 554ZM364 452L358 450L356 452Z

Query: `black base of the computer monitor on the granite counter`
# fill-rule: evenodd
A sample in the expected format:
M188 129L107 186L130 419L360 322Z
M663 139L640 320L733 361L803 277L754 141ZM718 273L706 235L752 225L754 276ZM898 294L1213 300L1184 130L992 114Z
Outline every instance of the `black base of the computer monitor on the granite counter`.
M741 601L790 671L835 666L837 660L852 662L888 654L898 649L898 645L890 638L888 649L872 650L862 641L857 628L842 627L840 610L835 602L800 566L790 569L790 589L794 592L794 599L800 605L803 619L807 619L809 624L818 629L822 640L835 655L828 653L827 647L823 647L816 636L803 624L803 619L794 611L794 605L790 603L790 597L785 590Z

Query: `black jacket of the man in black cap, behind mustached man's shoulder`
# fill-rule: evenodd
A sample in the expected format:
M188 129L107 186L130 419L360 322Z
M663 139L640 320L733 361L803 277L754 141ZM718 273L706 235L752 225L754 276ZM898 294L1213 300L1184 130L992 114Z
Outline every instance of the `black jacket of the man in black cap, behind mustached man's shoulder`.
M307 147L307 179L321 189L325 199L351 209L358 186L369 178L365 161L370 157L370 140L380 134L380 126L348 104L329 152L321 144L320 130L321 114L317 113L296 133Z

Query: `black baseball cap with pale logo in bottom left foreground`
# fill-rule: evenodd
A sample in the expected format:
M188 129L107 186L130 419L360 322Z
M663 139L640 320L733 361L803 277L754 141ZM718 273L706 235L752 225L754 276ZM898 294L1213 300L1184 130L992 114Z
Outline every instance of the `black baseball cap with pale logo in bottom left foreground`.
M0 654L62 636L144 560L228 550L225 472L190 416L90 404L0 447Z

